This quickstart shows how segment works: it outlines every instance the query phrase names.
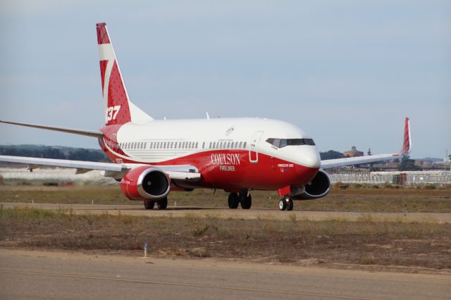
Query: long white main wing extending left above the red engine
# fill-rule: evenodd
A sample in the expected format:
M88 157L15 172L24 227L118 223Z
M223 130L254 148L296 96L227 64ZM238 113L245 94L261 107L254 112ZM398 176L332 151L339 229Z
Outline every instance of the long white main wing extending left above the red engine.
M28 165L29 170L39 168L41 166L74 168L77 169L75 174L82 174L92 170L104 171L104 176L121 179L125 173L132 168L139 167L143 164L137 163L97 163L93 161L70 161L68 159L53 158L35 158L22 156L0 156L0 161L6 163L24 163ZM152 165L149 165L152 166ZM199 170L193 165L153 165L167 173L173 180L197 181L200 179Z

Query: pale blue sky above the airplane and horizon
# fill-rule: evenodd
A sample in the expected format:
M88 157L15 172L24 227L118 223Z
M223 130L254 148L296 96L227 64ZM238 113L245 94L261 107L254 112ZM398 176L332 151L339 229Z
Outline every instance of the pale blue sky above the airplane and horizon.
M0 118L103 125L95 24L154 118L266 117L321 151L451 152L450 1L1 1ZM97 147L0 125L0 144Z

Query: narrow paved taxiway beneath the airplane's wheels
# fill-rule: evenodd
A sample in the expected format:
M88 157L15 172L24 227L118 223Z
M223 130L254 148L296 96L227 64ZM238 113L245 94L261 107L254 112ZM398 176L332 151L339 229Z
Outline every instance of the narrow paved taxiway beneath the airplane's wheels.
M137 205L89 205L89 204L25 204L4 203L5 208L11 207L35 207L44 209L72 209L74 213L110 213L119 211L123 215L149 215L149 216L185 216L187 213L199 216L211 216L216 218L274 218L286 219L295 214L297 220L387 220L401 221L404 213L354 213L341 211L278 211L271 209L228 209L228 208L200 208L200 207L168 207L166 210L146 210ZM451 223L451 213L406 213L407 222Z

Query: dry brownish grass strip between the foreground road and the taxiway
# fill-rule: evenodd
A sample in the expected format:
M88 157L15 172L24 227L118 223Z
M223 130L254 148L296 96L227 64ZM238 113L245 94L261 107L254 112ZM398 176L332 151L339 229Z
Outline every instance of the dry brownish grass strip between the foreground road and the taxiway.
M0 209L0 247L156 257L451 269L451 224L75 215ZM412 267L414 267L412 269Z

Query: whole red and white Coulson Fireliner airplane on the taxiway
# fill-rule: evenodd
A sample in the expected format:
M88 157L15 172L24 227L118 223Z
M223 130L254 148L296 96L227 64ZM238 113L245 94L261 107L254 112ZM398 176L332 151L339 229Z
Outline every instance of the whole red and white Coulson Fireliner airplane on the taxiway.
M121 181L130 200L164 209L171 191L197 188L229 192L229 208L252 205L251 190L278 190L279 208L291 211L293 200L317 199L330 190L326 169L387 161L410 151L409 119L400 153L321 161L314 140L295 125L261 118L154 120L130 101L105 23L97 24L105 126L97 130L22 125L85 135L99 140L112 163L0 156L0 161L102 170Z

